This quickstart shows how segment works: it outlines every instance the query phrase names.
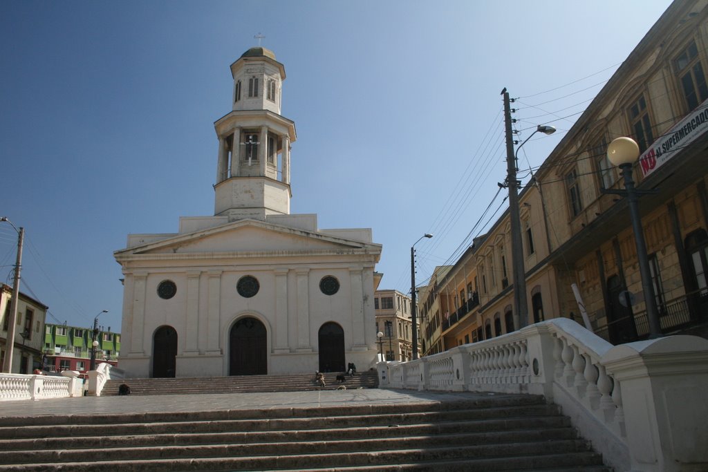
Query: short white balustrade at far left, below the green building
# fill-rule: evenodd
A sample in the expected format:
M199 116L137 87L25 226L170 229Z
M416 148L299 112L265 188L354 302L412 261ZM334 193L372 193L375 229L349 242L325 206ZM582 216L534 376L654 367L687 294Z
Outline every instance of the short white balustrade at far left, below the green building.
M0 401L81 396L83 384L67 376L0 374Z

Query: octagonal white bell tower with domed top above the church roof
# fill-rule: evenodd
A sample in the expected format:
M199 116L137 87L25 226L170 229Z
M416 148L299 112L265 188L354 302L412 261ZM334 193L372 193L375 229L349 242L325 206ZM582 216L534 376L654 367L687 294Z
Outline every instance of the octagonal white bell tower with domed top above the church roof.
M280 115L285 67L251 47L231 64L232 111L215 122L219 138L214 214L229 221L290 214L290 143L295 123Z

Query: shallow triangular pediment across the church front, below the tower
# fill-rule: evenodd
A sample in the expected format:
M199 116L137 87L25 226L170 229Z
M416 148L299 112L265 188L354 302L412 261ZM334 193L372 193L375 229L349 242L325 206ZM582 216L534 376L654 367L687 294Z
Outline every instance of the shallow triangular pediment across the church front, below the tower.
M149 254L207 253L380 253L381 246L346 238L278 226L258 220L235 221L190 234L169 236L159 241L117 251L115 257Z

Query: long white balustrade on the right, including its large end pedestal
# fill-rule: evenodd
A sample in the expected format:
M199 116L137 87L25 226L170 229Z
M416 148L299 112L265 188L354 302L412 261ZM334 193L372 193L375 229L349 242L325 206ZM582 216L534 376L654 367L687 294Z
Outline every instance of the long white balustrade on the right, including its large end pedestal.
M613 346L556 318L377 370L383 388L543 395L617 471L708 470L703 338Z

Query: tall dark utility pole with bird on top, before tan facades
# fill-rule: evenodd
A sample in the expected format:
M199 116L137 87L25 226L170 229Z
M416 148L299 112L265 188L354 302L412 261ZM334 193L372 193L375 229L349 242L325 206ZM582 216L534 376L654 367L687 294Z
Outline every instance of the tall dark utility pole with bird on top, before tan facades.
M516 158L514 155L514 137L511 130L511 108L509 93L506 88L501 91L504 96L504 125L506 126L506 186L509 189L509 219L511 220L511 265L514 274L514 325L521 329L528 324L526 301L526 271L524 269L524 253L521 242L521 221L519 219L519 180L516 178Z

